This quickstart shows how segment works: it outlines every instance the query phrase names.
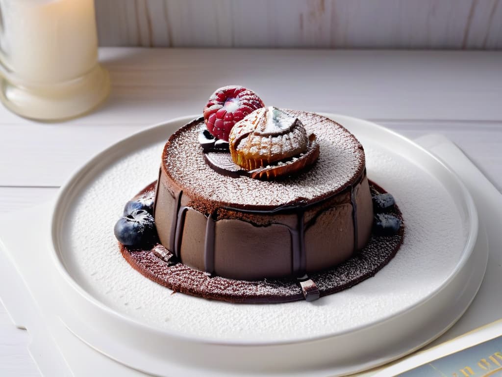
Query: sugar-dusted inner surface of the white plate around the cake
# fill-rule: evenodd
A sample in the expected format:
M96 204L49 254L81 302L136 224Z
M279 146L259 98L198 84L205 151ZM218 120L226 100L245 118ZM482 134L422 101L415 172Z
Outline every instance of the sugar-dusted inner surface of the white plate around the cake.
M172 130L166 127L162 137L156 132L148 134L156 135L155 142L148 136L149 146L141 144L147 136L136 137L80 177L60 222L57 247L78 284L112 310L140 322L173 333L236 341L293 341L348 331L426 298L462 253L465 224L440 180L391 148L361 138L368 177L394 195L407 227L404 244L379 273L312 303L236 305L172 295L131 268L113 236L123 205L157 179L162 148ZM392 138L384 132L382 136Z

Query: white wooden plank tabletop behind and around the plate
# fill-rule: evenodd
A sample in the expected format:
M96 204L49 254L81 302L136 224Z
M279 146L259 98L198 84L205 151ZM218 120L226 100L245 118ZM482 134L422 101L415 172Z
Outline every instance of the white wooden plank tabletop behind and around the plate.
M91 115L43 124L0 107L3 216L53 198L109 144L200 114L226 84L254 89L267 105L369 119L411 138L443 133L502 188L502 52L102 48L100 58L112 92ZM0 375L39 375L28 342L0 305Z

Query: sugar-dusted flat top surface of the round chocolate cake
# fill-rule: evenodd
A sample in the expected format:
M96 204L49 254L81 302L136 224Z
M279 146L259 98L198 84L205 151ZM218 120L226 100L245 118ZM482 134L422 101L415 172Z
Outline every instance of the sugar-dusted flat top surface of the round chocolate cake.
M316 203L343 191L362 174L364 150L344 127L318 114L281 110L297 117L307 134L317 136L320 145L318 161L299 175L263 181L216 172L206 164L198 142L198 134L205 127L201 118L170 137L162 157L164 173L195 202L243 210Z

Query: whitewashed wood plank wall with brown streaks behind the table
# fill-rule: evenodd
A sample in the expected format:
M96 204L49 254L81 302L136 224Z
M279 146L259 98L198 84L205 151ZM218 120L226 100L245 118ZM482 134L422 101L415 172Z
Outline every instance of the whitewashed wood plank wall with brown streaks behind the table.
M102 46L500 49L500 0L96 0Z

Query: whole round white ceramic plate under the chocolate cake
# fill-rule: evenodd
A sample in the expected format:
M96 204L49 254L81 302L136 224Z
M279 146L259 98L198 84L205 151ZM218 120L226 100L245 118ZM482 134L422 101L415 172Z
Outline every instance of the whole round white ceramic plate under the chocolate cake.
M52 246L68 328L111 358L158 375L343 375L409 353L449 328L486 265L485 248L474 248L470 195L413 142L370 122L327 116L361 141L369 178L404 214L405 242L382 271L314 303L236 305L170 295L133 270L113 224L156 179L163 144L193 117L182 118L108 148L61 190Z

